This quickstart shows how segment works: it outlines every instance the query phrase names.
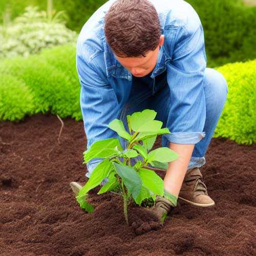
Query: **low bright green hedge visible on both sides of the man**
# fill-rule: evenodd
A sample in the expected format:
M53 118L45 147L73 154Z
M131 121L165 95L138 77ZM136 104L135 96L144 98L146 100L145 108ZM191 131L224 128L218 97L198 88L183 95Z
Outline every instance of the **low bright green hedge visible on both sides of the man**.
M255 143L256 60L218 70L227 79L228 97L214 137ZM74 45L5 59L0 62L0 77L0 120L22 120L39 112L82 120Z

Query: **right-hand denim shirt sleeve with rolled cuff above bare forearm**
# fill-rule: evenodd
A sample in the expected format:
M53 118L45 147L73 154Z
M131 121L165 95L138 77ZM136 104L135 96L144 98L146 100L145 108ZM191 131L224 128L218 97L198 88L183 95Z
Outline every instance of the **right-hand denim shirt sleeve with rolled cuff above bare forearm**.
M168 142L196 144L205 137L205 92L203 88L206 56L203 28L198 25L180 27L177 31L173 58L166 63L170 89L170 110L164 135Z

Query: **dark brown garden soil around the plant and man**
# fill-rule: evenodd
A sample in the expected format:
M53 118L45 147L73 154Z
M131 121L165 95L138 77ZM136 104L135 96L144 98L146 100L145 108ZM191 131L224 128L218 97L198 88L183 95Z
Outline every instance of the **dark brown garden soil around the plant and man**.
M127 227L118 195L94 189L93 214L79 208L69 182L86 181L86 137L64 122L60 145L56 116L0 123L0 255L255 255L255 144L212 139L201 170L215 207L178 205L160 229L132 207Z

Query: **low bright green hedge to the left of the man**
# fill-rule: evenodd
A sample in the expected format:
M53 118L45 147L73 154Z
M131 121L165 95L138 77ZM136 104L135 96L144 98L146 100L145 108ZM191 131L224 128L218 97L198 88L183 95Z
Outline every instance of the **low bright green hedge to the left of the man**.
M81 120L74 45L47 49L28 58L5 59L0 62L0 76L4 77L0 120L22 120L39 112ZM17 108L21 101L22 107Z

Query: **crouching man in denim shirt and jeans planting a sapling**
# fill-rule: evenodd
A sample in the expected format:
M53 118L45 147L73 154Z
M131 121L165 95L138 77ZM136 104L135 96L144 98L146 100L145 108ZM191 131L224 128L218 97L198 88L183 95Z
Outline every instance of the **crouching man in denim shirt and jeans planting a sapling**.
M162 146L177 152L164 178L159 219L183 202L208 207L199 167L227 96L224 77L206 68L204 34L196 11L182 0L118 0L100 7L83 26L77 42L80 104L90 148L117 137L115 118L153 109L171 132ZM90 177L96 159L88 166ZM73 189L79 189L72 182Z

